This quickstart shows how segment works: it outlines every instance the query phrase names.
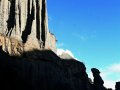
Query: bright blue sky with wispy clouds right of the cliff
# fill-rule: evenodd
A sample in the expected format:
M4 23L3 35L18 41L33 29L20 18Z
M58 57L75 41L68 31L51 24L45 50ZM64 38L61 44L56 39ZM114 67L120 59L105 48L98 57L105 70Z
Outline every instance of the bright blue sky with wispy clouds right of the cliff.
M47 0L47 8L57 47L70 50L88 72L100 69L106 86L119 81L120 0Z

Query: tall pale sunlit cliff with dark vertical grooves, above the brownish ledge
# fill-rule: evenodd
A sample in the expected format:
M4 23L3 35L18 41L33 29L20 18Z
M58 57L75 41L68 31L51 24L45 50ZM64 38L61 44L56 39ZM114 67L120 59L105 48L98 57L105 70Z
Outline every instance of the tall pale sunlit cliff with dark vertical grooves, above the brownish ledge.
M46 0L0 0L0 33L22 42L24 50L56 50L48 30ZM49 40L52 38L52 40Z

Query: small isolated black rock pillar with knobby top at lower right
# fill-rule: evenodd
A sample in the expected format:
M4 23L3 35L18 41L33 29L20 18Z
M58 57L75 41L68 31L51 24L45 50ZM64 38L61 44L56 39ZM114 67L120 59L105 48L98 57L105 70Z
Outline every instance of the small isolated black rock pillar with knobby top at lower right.
M96 68L92 68L91 71L94 77L94 83L93 83L94 90L105 90L105 87L103 86L104 81L100 76L100 71Z

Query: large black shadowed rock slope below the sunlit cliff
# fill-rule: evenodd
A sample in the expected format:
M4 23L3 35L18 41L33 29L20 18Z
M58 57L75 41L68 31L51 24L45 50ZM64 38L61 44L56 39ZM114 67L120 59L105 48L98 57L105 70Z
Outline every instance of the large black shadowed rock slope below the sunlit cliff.
M0 50L1 90L91 90L86 67L61 60L52 51L29 51L9 56Z

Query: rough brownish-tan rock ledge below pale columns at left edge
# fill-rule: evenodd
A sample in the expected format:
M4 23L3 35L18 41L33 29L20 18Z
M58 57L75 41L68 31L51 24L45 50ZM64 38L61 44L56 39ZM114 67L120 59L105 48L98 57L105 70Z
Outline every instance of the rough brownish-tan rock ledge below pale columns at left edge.
M10 55L21 55L23 53L23 44L15 38L8 38L0 34L0 46Z

